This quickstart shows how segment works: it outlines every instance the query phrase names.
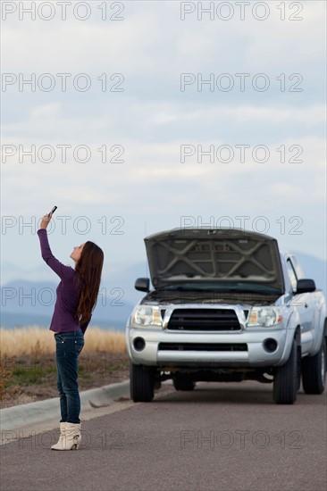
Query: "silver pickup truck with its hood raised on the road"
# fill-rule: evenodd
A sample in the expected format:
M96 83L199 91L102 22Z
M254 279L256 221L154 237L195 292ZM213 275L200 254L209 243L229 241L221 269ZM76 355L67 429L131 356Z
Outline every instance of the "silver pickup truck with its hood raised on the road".
M126 327L130 395L151 401L161 382L272 383L277 404L324 390L326 303L292 254L241 229L172 229L145 239L147 295Z

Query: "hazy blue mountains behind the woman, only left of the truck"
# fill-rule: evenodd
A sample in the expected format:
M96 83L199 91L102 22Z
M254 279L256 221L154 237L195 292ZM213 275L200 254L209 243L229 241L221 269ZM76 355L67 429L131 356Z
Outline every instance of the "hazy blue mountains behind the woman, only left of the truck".
M10 263L5 263L5 278L9 277L11 267L12 278L17 277L17 279L7 281L1 287L1 325L14 327L29 323L49 326L59 278L49 270L46 277L57 279L57 282L34 280L36 271L39 274L39 268L23 271ZM124 328L134 305L144 296L135 290L134 283L135 279L146 275L146 270L146 263L137 263L125 269L113 270L110 278L103 277L92 316L94 325L100 327L114 325L117 329ZM43 268L43 274L44 271Z

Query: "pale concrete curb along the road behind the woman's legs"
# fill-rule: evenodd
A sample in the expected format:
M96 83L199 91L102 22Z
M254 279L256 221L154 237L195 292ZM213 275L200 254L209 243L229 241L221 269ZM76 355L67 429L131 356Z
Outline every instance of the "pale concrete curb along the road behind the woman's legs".
M96 409L112 404L115 399L120 397L130 398L130 380L108 386L91 388L80 392L80 419L83 418L83 412L95 412ZM55 420L59 424L60 404L59 397L38 401L37 403L21 404L0 410L0 429L17 430L40 422Z

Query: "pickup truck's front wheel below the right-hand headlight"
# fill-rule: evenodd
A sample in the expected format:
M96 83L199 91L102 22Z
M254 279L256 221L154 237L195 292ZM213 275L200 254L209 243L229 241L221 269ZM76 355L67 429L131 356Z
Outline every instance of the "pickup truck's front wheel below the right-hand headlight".
M298 392L298 349L293 339L289 360L278 367L273 379L273 400L276 404L293 404Z

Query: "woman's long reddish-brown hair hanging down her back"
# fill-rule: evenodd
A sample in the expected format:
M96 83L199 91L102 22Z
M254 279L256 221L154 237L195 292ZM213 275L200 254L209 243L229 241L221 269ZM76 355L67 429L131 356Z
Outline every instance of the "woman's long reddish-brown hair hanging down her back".
M104 252L94 242L85 243L75 270L78 273L76 280L80 291L80 303L75 313L75 320L82 325L91 319L92 311L96 306L99 293L102 267L104 265Z

